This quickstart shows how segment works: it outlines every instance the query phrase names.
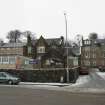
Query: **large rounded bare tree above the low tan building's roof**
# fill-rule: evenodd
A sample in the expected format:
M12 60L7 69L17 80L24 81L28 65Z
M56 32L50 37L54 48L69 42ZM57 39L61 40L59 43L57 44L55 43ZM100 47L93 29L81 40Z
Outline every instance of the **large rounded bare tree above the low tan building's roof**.
M19 38L21 37L22 32L20 30L11 30L8 32L7 38L10 43L20 42Z

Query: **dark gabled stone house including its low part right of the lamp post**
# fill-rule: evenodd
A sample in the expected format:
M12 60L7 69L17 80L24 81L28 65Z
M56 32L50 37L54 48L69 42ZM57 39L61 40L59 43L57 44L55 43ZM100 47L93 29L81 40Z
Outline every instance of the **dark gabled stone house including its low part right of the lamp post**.
M41 36L35 43L37 64L34 68L65 68L67 64L64 38L44 39ZM78 66L79 47L70 47L68 50L69 67Z

